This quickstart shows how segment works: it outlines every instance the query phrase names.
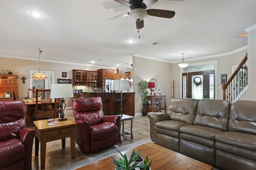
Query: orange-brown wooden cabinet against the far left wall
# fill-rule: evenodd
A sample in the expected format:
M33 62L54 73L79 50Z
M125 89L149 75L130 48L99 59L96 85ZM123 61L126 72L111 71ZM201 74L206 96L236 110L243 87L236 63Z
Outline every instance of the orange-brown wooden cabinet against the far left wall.
M12 91L14 91L16 100L18 100L19 92L19 76L18 75L0 75L0 98L3 100L13 100L12 99ZM5 98L4 93L10 92L11 98Z

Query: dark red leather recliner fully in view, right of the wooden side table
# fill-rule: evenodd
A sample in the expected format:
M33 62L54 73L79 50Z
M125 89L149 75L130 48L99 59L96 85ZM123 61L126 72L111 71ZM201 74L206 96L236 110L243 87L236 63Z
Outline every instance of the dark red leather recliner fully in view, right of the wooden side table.
M120 115L104 116L102 100L73 98L73 114L76 123L76 143L88 152L98 152L119 142Z

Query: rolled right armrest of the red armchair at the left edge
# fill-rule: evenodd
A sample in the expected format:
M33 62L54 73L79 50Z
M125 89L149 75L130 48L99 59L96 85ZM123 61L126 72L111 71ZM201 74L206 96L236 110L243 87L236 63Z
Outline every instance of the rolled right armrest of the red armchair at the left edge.
M31 170L32 162L32 147L33 140L35 137L36 131L33 129L24 128L18 133L18 138L24 143L25 146L25 169Z

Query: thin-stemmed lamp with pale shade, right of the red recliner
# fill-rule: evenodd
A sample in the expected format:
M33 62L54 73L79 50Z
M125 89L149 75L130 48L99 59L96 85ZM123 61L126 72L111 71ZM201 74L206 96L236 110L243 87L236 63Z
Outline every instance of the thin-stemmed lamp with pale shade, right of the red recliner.
M112 90L121 91L121 116L123 116L122 91L130 90L129 80L114 80Z

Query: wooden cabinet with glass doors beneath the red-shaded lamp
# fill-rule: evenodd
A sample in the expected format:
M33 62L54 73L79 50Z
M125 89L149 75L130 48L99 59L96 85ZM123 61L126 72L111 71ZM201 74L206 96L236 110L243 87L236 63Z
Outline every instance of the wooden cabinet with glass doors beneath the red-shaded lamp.
M157 95L157 96L148 96L147 102L148 112L150 111L161 111L166 110L166 96Z

